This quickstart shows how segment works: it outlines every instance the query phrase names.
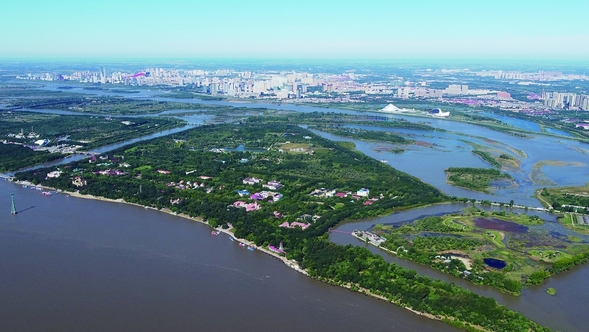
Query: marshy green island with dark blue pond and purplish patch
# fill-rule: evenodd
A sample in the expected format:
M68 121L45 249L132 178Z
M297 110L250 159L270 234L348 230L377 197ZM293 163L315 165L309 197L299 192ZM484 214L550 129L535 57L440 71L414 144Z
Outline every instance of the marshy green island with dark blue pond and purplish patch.
M472 207L373 232L386 239L379 246L400 257L518 295L524 285L589 259L586 235L556 236L544 225L537 216Z

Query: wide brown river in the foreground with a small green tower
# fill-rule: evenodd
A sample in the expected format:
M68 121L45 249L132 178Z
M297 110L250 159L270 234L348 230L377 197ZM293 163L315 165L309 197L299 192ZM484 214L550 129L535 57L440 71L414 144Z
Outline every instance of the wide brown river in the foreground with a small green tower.
M456 331L169 214L2 180L0 207L4 331Z

